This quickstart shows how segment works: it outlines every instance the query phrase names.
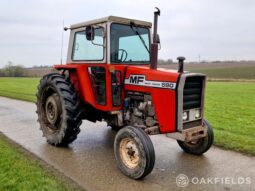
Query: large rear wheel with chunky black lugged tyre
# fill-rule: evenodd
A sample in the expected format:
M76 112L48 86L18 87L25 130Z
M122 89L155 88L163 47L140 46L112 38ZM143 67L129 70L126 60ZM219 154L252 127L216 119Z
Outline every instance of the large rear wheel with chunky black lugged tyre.
M47 142L67 146L80 132L81 101L72 84L60 74L45 75L38 85L37 114Z

